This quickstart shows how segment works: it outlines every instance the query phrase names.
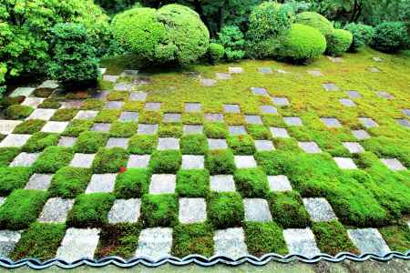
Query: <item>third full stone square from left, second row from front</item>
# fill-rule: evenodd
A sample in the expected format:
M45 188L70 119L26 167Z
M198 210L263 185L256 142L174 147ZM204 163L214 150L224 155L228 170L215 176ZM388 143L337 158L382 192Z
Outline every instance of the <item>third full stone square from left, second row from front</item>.
M179 222L181 224L202 223L207 219L204 198L179 198Z

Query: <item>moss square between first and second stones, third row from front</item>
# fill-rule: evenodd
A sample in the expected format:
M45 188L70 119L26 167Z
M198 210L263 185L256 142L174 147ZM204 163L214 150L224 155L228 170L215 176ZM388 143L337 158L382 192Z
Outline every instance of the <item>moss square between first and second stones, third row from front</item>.
M86 191L91 171L82 167L62 167L56 171L48 192L52 197L75 198Z

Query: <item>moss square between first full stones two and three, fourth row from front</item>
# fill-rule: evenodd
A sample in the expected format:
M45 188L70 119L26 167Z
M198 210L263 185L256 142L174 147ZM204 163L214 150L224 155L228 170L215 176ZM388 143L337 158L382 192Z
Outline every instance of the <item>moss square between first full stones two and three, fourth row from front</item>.
M93 173L118 173L120 167L127 166L128 156L127 150L120 147L100 148L93 161Z

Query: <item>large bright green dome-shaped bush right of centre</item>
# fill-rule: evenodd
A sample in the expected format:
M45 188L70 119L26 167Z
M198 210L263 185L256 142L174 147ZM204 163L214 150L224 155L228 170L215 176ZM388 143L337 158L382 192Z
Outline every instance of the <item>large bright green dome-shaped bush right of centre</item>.
M319 30L309 25L293 24L282 38L277 56L294 63L301 63L321 56L326 50L326 39Z

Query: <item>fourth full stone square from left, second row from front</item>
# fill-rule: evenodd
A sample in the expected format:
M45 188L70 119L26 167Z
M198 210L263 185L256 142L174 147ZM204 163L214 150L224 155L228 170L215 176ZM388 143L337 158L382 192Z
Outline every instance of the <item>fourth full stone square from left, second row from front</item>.
M271 211L268 202L261 198L243 199L245 207L245 220L251 222L270 222L272 221Z

